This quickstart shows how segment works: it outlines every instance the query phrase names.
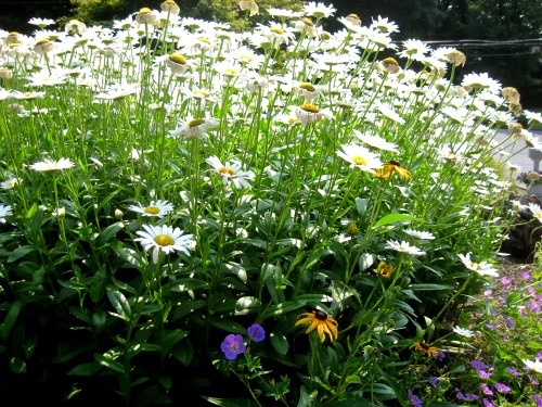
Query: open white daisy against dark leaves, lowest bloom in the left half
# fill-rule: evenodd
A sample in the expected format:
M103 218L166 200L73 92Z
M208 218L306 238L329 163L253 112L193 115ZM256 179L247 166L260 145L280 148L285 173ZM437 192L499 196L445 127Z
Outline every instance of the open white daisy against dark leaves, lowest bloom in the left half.
M153 251L153 263L158 263L158 255L162 253L169 254L172 252L183 252L188 255L189 249L192 247L194 241L192 234L183 234L184 232L172 226L152 226L143 225L145 231L138 230L136 233L141 238L136 238L136 242L141 242L145 252Z

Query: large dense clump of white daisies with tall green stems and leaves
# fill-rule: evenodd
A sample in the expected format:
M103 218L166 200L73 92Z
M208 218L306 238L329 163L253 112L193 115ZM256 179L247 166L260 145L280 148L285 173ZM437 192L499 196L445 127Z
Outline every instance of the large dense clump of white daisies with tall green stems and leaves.
M127 405L436 399L517 213L504 147L539 117L386 16L231 13L0 30L2 377Z

